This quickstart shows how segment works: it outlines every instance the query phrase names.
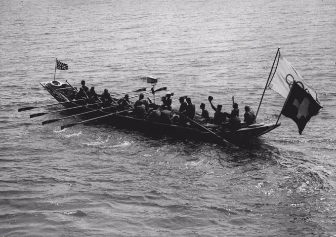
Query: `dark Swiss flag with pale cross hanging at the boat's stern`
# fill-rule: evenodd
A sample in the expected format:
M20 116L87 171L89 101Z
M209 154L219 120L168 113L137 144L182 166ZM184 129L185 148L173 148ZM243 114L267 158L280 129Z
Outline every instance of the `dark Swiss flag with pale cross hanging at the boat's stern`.
M303 88L301 82L294 81L281 114L294 120L301 135L310 118L317 115L322 108Z

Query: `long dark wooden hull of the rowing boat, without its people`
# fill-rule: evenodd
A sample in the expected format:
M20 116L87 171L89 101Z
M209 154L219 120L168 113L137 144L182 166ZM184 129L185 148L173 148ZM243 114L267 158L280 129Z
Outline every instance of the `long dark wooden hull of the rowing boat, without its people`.
M70 84L56 83L54 85L52 81L47 83L40 83L45 90L47 90L58 102L67 102L66 95L70 94L74 87ZM79 104L75 102L63 103L66 108L78 107ZM72 110L71 113L81 113L85 111L96 110L96 108L82 107L80 109ZM90 113L89 116L85 115L85 118L98 118L104 115L109 115L112 112L95 111ZM98 119L97 119L98 120ZM106 116L98 120L100 123L106 123L117 127L128 128L132 130L138 130L147 134L161 134L168 135L175 138L190 139L211 143L223 143L229 142L235 145L246 144L251 139L259 137L267 132L272 131L281 123L271 124L258 124L246 126L242 123L242 128L237 131L222 131L219 132L217 127L213 124L196 125L190 123L187 126L181 126L178 123L165 124L161 122L154 122L147 119L138 119L132 116L131 112L125 112L123 114L116 114L112 116ZM197 123L198 124L198 123Z

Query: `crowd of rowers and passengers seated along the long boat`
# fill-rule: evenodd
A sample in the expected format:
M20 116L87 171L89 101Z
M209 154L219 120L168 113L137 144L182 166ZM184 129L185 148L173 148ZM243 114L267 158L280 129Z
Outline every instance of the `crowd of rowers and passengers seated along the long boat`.
M129 101L128 94L120 99L112 98L108 89L105 89L101 95L98 95L93 86L89 89L85 85L85 80L82 80L81 84L82 86L78 92L76 89L73 89L72 93L68 96L69 100L86 99L85 102L88 101L88 104L96 104L96 106L101 108L109 107L112 113L129 110L132 111L131 113L135 118L149 119L167 124L178 123L182 126L190 126L190 121L195 121L203 124L212 123L220 127L221 131L236 131L241 128L239 108L238 104L234 102L234 97L232 97L232 110L228 113L222 111L222 105L220 104L215 107L212 104L212 97L209 96L210 106L214 110L214 116L210 118L205 103L201 103L200 109L202 112L198 113L190 97L180 97L180 107L179 110L176 111L171 108L171 93L167 93L166 96L161 98L161 105L152 103L149 98L145 99L143 93L141 93L138 100L132 104ZM253 124L255 122L253 111L248 105L246 105L244 109L244 122L246 122L247 125Z

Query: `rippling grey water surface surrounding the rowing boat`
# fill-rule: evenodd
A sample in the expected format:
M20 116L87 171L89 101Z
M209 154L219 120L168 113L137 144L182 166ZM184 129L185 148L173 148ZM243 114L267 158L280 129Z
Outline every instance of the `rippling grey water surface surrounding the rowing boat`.
M0 2L0 235L336 236L334 0ZM39 82L129 91L159 77L176 98L256 111L277 47L323 111L247 147L158 139L105 125L60 130L18 108L54 103ZM176 102L175 102L176 103ZM284 98L266 91L258 116ZM178 103L173 107L178 107ZM209 103L207 107L210 108Z

